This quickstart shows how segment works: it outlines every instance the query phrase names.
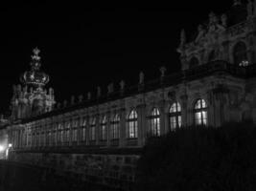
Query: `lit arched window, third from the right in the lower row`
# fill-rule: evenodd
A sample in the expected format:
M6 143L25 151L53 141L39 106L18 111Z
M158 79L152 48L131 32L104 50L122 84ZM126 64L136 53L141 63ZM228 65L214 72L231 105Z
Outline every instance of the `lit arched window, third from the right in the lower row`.
M160 114L159 110L151 110L151 136L160 136Z

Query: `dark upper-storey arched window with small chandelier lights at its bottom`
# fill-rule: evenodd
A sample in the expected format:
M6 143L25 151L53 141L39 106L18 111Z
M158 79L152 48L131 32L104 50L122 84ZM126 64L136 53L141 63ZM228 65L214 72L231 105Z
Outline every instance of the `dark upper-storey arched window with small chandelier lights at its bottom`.
M238 66L247 66L248 59L246 45L244 42L238 42L233 49L234 64Z

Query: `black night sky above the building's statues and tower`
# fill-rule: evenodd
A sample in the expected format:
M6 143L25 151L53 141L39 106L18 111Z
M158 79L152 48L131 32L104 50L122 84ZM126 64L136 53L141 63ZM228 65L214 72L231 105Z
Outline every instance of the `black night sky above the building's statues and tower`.
M191 2L191 1L188 1ZM50 74L48 87L57 101L70 96L103 92L110 82L127 85L179 70L175 49L182 28L188 34L207 20L208 13L222 13L232 0L168 1L169 5L92 7L82 4L15 4L0 8L0 112L9 108L12 84L30 70L32 49L41 50L42 70ZM127 5L131 6L131 5ZM135 8L135 6L138 6Z

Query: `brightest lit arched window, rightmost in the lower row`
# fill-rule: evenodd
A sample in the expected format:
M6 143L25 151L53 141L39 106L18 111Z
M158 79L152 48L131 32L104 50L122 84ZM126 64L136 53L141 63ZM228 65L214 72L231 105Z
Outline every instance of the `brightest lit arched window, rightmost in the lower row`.
M207 104L204 99L197 100L194 113L196 125L207 125Z

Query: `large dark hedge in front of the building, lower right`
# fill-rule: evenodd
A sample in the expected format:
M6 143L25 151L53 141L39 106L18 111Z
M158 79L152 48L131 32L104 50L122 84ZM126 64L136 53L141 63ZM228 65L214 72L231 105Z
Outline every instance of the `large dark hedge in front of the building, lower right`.
M140 191L256 190L256 126L194 126L150 138L137 172Z

